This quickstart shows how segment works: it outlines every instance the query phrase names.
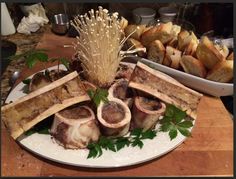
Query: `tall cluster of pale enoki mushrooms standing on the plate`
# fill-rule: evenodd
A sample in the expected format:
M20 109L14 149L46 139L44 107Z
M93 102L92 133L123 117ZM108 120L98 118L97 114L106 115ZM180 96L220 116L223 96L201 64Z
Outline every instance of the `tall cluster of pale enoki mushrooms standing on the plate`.
M118 13L109 14L102 7L88 13L78 15L71 22L80 34L73 46L87 80L107 87L115 79L122 59L121 47L126 39L121 40Z

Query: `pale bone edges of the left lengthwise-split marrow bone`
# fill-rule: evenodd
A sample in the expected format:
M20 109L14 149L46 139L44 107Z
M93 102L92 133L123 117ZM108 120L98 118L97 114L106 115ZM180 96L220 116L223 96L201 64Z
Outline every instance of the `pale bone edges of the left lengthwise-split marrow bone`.
M25 102L29 99L32 99L32 98L35 98L39 95L42 95L42 94L45 94L46 92L50 91L50 90L53 90L63 84L65 84L66 82L69 82L70 80L73 80L75 78L78 77L78 73L75 71L75 72L72 72L68 75L66 75L65 77L55 81L55 82L52 82L50 85L47 85L45 87L42 87L22 98L19 98L18 100L16 100L15 102L13 103L10 103L8 105L5 105L2 107L2 114L4 116L4 113L6 110L9 110L11 108L14 109L14 106L16 104L19 104L19 103L22 103L22 102ZM81 96L76 96L76 97L72 97L72 98L69 98L69 99L65 99L62 101L62 103L58 103L58 104L55 104L53 105L52 107L48 108L46 111L42 112L40 115L38 115L36 118L32 119L30 122L27 122L27 125L24 125L24 126L20 126L18 129L16 129L16 131L10 131L11 132L11 136L16 139L17 137L19 137L21 134L23 134L25 131L29 130L32 126L34 126L35 124L39 123L40 121L42 121L43 119L47 118L48 116L68 107L68 106L71 106L73 104L76 104L76 103L79 103L79 102L82 102L82 101L88 101L90 100L89 96L86 94L86 92L81 95ZM11 119L4 119L4 122L6 122L7 120L11 120ZM6 120L6 121L5 121ZM7 126L8 127L8 126ZM12 127L12 126L11 126Z

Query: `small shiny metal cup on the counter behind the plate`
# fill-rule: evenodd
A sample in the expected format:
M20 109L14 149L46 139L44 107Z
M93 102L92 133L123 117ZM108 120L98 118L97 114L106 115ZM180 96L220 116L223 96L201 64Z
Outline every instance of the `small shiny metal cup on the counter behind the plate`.
M69 29L69 19L66 14L56 14L52 19L52 31L64 35Z

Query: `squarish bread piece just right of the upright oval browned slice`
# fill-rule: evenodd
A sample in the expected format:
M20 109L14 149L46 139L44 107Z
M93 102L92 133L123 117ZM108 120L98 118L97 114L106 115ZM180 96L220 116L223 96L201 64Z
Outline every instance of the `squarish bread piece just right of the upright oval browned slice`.
M171 46L167 46L166 47L166 55L163 60L163 65L169 66L174 69L178 69L181 55L182 55L181 51L179 51Z

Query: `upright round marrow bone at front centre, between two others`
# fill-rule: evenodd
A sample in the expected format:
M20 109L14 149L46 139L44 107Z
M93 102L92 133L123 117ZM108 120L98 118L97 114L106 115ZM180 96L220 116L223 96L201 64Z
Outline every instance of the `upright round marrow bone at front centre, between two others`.
M101 133L112 137L124 136L129 131L131 112L120 99L108 98L108 100L108 103L100 102L97 108Z

